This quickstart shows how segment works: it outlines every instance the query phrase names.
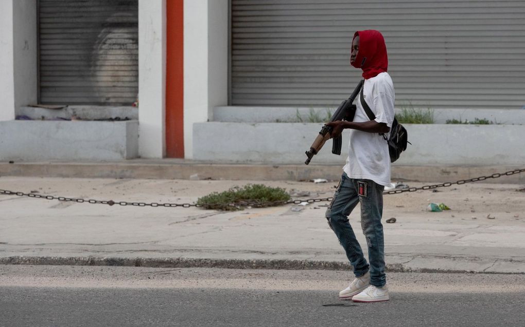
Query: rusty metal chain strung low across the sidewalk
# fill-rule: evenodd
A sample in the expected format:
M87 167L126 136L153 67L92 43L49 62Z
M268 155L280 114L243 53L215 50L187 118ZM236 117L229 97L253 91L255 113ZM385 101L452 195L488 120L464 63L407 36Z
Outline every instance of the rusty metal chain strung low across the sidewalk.
M417 190L427 190L427 189L435 189L438 187L449 187L451 185L462 185L466 183L472 183L472 182L480 182L485 181L489 178L498 178L501 176L510 176L514 174L519 174L525 172L525 168L508 171L505 173L496 173L492 174L490 176L480 176L476 178L470 178L470 179L461 179L456 182L447 182L442 184L434 184L434 185L426 185L422 187L410 187L410 188L404 188L404 189L394 189L391 191L385 191L383 194L400 194L405 192L415 192ZM34 194L34 193L23 193L19 191L10 191L5 189L0 189L0 195L16 195L20 197L30 197L30 198L37 198L37 199L46 199L46 200L59 200L59 201L65 201L65 202L78 202L78 203L89 203L93 205L119 205L119 206L134 206L134 207L170 207L170 208L209 208L214 209L218 207L222 207L224 205L216 205L216 204L177 204L177 203L157 203L157 202L126 202L126 201L119 201L115 202L113 200L93 200L93 199L82 199L82 198L67 198L63 196L52 196L52 195L40 195L40 194ZM253 201L253 202L237 202L228 204L230 207L254 207L254 208L262 208L262 207L271 207L271 206L278 206L278 205L287 205L287 204L301 204L303 202L307 203L314 203L314 202L323 202L323 201L331 201L332 197L329 198L318 198L318 199L307 199L307 200L288 200L288 201L274 201L274 202L262 202L262 201Z

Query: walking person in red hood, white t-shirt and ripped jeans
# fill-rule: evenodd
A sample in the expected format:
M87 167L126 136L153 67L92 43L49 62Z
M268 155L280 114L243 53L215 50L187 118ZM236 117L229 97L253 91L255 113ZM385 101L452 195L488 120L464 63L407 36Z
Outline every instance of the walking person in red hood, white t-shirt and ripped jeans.
M339 186L326 217L346 252L355 275L339 293L341 299L376 302L390 299L386 286L383 225L383 190L390 184L390 155L383 136L394 120L394 86L386 72L388 59L383 36L376 30L355 32L350 63L363 70L365 78L353 121L334 121L332 137L350 129L349 154ZM364 106L363 103L365 102ZM375 115L371 120L364 107ZM361 227L366 238L369 262L348 216L361 204Z

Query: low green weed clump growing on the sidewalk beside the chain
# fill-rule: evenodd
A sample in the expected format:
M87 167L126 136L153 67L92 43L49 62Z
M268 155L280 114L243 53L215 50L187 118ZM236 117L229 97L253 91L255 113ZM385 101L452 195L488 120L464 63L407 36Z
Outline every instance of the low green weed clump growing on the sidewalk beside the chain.
M252 203L252 207L278 206L290 199L285 189L280 187L268 187L262 184L248 184L244 187L233 187L227 191L214 192L197 199L197 205L206 209L217 209L225 211L242 210L246 202ZM265 204L265 202L274 202Z

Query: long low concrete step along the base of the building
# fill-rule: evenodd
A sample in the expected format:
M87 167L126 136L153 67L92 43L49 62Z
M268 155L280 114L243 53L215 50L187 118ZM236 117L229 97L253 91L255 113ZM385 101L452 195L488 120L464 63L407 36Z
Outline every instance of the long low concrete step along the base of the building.
M0 163L0 176L143 178L143 179L247 179L252 181L337 181L341 165L210 164L185 160L129 160L117 163L36 162ZM512 171L522 166L400 166L392 167L392 181L455 182ZM525 183L525 173L489 178L483 183Z

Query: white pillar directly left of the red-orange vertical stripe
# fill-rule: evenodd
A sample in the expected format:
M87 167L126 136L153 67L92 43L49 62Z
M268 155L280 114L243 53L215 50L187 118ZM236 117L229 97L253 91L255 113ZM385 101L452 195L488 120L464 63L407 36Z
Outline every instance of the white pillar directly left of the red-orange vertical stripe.
M162 158L165 138L166 0L139 0L139 155Z

